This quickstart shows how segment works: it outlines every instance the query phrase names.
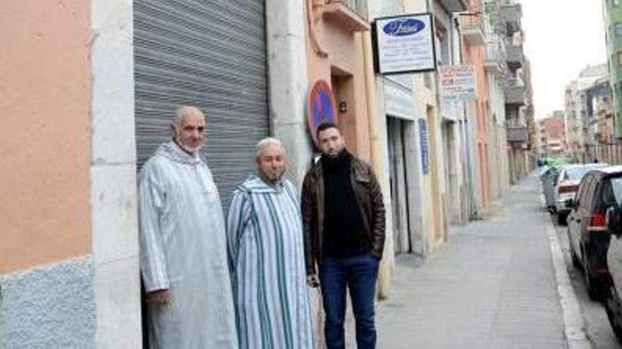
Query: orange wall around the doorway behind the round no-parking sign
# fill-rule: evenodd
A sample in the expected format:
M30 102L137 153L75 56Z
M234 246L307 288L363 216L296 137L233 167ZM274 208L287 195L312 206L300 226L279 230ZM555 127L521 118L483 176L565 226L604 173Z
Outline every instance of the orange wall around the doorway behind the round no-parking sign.
M358 157L370 160L369 119L365 90L365 66L363 61L363 40L359 32L348 32L339 24L324 21L321 6L315 7L314 24L319 46L328 53L327 57L317 55L310 40L310 27L307 31L307 61L309 82L312 85L318 79L331 84L331 74L339 72L343 85L332 86L344 91L336 96L336 101L348 102L348 111L339 114L339 125L346 137L348 149ZM309 87L310 88L310 87Z

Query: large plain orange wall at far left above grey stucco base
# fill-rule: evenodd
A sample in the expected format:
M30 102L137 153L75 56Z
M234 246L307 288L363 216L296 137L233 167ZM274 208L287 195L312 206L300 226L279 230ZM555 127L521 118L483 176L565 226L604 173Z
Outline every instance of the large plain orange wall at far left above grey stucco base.
M0 274L90 247L90 1L0 1Z

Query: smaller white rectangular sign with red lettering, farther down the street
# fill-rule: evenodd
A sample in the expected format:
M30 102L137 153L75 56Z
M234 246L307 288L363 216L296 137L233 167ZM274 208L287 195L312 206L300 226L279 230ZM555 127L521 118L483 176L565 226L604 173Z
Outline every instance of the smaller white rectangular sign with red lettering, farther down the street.
M440 95L444 99L476 99L475 69L468 64L438 67Z

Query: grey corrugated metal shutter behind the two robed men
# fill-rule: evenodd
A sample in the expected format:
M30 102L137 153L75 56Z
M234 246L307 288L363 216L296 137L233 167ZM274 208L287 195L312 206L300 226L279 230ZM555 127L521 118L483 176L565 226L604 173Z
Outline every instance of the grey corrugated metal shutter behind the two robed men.
M201 154L228 205L269 135L264 21L263 0L134 1L139 169L170 140L177 106L199 106L208 116Z

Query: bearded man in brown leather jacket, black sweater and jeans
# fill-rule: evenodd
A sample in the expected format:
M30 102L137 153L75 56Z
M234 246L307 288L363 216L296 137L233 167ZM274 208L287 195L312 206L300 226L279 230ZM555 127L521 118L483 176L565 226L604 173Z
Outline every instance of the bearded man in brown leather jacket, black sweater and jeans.
M322 289L327 348L345 348L346 288L358 348L375 348L375 286L385 245L382 192L370 166L347 151L337 125L319 125L317 144L322 157L305 176L301 200L307 281Z

